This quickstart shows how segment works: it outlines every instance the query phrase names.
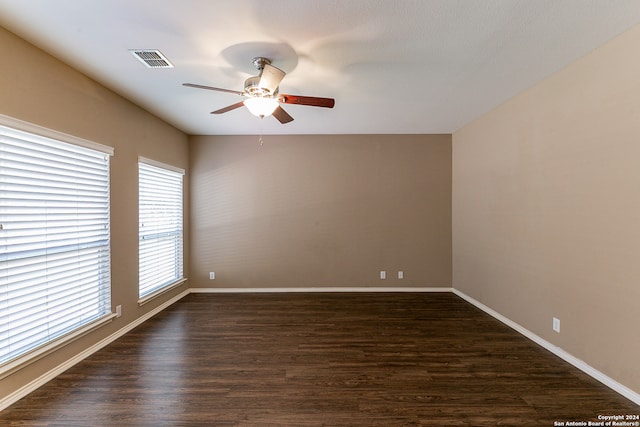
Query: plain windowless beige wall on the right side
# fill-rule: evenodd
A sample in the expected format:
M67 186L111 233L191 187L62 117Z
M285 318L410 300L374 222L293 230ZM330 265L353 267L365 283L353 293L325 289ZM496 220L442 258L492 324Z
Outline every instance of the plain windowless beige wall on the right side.
M636 27L453 135L454 287L636 392L639 46Z

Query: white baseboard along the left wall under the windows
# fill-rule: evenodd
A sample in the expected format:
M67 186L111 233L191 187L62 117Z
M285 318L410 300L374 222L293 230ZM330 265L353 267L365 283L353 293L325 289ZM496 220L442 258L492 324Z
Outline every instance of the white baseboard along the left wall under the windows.
M91 356L96 351L98 351L98 350L106 347L107 345L111 344L112 342L114 342L115 340L117 340L118 338L120 338L121 336L126 334L127 332L131 331L136 326L141 325L142 323L144 323L145 321L147 321L151 317L153 317L156 314L160 313L162 310L164 310L165 308L169 307L170 305L172 305L176 301L182 299L183 297L187 296L188 294L189 294L189 290L186 290L186 291L176 295L175 297L171 298L170 300L168 300L168 301L164 302L163 304L159 305L158 307L154 308L153 310L151 310L150 312L148 312L144 316L139 317L135 321L133 321L133 322L129 323L128 325L124 326L123 328L117 330L116 332L114 332L113 334L111 334L108 337L104 338L103 340L95 343L91 347L89 347L89 348L85 349L84 351L76 354L71 359L66 360L64 363L61 363L60 365L58 365L55 368L51 369L50 371L46 372L44 375L36 378L35 380L33 380L30 383L24 385L23 387L19 388L18 390L14 391L13 393L11 393L11 394L7 395L6 397L0 399L0 411L4 410L5 408L9 407L10 405L13 405L15 402L17 402L18 400L22 399L23 397L25 397L29 393L31 393L34 390L36 390L37 388L45 385L46 383L48 383L49 381L51 381L52 379L54 379L55 377L57 377L58 375L60 375L64 371L66 371L67 369L69 369L72 366L76 365L77 363L82 362L84 359L86 359L87 357Z

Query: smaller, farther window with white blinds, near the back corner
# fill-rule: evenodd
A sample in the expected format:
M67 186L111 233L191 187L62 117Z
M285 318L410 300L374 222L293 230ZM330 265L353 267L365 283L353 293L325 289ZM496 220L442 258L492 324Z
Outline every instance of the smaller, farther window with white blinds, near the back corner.
M184 281L183 175L182 169L149 159L140 158L138 163L138 286L141 302Z

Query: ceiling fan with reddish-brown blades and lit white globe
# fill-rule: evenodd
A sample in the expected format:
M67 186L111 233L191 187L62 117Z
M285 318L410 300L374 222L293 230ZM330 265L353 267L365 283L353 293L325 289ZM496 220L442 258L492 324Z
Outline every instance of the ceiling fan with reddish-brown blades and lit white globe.
M193 83L183 83L183 85L197 89L233 93L246 98L244 101L212 111L211 114L226 113L244 105L253 115L260 118L273 115L273 117L278 119L282 124L289 123L293 120L293 117L280 106L280 103L325 108L333 108L335 105L333 98L317 98L314 96L284 95L278 93L280 82L286 73L271 65L271 61L267 58L253 58L252 63L258 69L258 75L245 80L244 90L242 92Z

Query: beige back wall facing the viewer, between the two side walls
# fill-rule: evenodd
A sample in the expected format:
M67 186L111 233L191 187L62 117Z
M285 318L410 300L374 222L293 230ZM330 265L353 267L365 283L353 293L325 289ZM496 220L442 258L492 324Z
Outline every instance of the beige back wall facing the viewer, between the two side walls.
M450 135L264 140L191 138L192 286L451 286Z

